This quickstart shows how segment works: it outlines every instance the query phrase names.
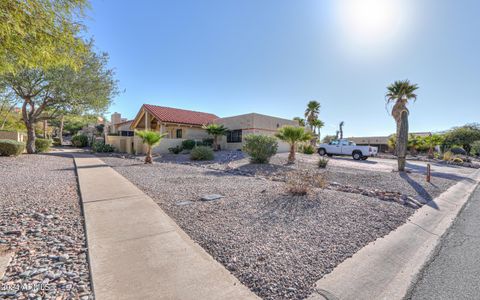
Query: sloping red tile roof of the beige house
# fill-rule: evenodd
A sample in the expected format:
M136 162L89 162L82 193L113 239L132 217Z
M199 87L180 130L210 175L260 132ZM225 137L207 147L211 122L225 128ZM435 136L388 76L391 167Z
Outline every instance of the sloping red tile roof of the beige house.
M192 110L164 107L157 105L143 105L159 121L168 123L181 123L190 125L204 125L218 119L214 114L203 113Z

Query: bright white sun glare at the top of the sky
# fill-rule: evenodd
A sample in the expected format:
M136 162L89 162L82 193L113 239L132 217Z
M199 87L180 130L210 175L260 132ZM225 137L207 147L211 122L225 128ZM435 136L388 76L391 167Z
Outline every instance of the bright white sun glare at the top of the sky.
M348 41L357 46L388 43L401 33L405 10L399 0L340 0L337 21Z

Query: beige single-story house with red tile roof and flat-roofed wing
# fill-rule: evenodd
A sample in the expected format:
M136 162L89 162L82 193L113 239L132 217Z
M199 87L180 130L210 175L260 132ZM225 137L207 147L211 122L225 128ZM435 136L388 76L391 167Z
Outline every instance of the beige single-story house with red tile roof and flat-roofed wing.
M181 145L182 141L190 139L202 141L212 138L203 125L218 123L229 129L225 137L220 138L221 149L241 149L244 137L248 134L273 135L284 125L298 126L292 120L276 118L256 113L219 118L218 116L198 111L144 104L137 116L132 120L130 129L155 130L166 134L153 153L168 153L168 148ZM106 143L112 144L119 152L145 153L146 148L137 136L107 135ZM279 141L279 152L288 151L288 144Z

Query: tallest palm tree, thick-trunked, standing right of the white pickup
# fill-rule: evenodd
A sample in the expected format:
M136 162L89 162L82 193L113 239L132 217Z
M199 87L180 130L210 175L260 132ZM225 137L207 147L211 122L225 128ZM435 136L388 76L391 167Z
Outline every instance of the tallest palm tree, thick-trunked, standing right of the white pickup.
M414 93L418 89L417 84L411 84L408 79L397 80L387 87L385 95L386 104L393 103L392 117L397 123L397 141L395 143L398 159L398 171L405 171L405 157L407 155L408 145L408 108L410 99L414 101L417 95Z

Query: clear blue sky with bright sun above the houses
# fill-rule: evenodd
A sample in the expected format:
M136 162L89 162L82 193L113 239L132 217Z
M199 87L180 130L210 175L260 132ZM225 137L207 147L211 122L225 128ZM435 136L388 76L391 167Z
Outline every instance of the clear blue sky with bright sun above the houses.
M143 103L231 116L302 116L323 134L386 135L386 86L420 86L410 131L480 122L480 1L92 0L85 22L120 88L110 112Z

